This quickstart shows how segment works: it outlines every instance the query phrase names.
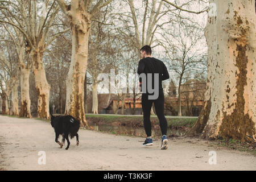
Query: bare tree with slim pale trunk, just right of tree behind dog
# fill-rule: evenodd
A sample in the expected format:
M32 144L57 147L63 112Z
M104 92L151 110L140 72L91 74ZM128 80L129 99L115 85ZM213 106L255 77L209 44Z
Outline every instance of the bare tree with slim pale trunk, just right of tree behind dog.
M109 27L110 7L106 6L104 11L99 11L95 15L92 23L92 30L89 37L89 57L88 57L88 73L92 76L92 112L98 114L98 84L102 80L98 80L100 73L110 72L111 68L115 67L118 59L115 55L118 54L119 48L118 36L114 34ZM113 59L112 59L113 58Z

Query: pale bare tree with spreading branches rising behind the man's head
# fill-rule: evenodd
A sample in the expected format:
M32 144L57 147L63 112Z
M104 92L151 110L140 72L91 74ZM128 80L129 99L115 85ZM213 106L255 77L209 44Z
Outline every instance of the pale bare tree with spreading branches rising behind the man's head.
M142 1L137 6L135 6L134 0L125 0L121 6L129 6L129 10L113 13L113 16L117 16L119 19L115 24L115 29L118 34L130 40L129 46L134 47L139 60L141 47L146 44L150 46L154 44L155 32L158 31L159 26L168 22L167 20L167 22L159 23L159 20L163 19L169 13L169 10L166 9L163 2L157 0ZM134 102L135 95L134 90ZM153 109L151 109L151 113L154 114Z

